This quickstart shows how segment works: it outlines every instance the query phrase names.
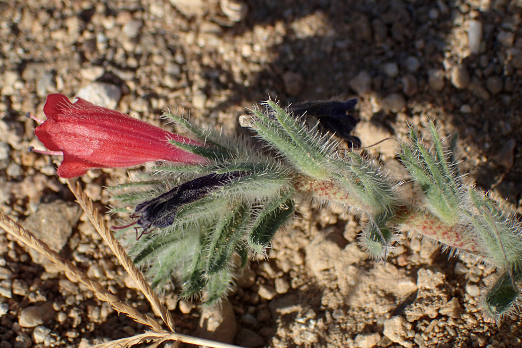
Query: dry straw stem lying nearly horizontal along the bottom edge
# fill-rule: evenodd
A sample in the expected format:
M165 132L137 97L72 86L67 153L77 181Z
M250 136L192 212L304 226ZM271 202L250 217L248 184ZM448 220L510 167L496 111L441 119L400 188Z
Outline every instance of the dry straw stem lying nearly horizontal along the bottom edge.
M123 338L120 340L114 340L111 342L101 343L94 345L92 348L121 348L121 347L129 347L134 344L144 343L144 342L154 342L149 345L149 348L157 347L163 342L167 341L180 341L188 344L195 344L200 346L206 346L210 348L241 348L237 345L220 343L209 341L205 339L200 339L192 336L187 336L181 333L173 333L173 332L154 332L154 331L146 331L145 333L141 333L139 335L135 335L133 337Z

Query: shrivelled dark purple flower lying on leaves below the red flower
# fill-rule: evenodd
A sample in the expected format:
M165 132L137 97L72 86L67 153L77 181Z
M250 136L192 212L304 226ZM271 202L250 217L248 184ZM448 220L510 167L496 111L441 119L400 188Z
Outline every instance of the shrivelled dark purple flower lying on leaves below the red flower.
M137 221L131 225L138 224L139 228L143 229L139 237L150 233L156 228L170 226L174 223L177 210L181 206L200 200L212 190L245 175L247 173L242 171L222 174L212 173L177 185L168 192L138 204L131 215ZM138 227L136 227L136 236L139 238L137 233Z

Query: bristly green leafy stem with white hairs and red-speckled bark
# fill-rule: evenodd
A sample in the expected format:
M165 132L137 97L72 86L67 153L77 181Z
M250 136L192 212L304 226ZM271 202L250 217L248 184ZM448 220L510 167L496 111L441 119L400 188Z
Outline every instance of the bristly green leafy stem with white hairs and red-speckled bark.
M429 137L410 126L398 154L418 189L410 196L383 165L354 148L359 139L350 132L357 120L347 114L354 105L349 100L284 109L268 100L240 117L262 149L244 137L165 114L195 137L191 143L171 140L172 146L207 162L158 165L148 176L110 190L114 212L129 212L144 231L154 229L126 240L151 283L174 282L181 296L216 303L249 256L266 257L272 238L290 221L295 199L313 196L366 219L360 243L376 260L386 259L400 232L497 266L501 274L484 290L483 307L496 320L511 312L522 281L521 224L463 180L456 137L447 146L433 121ZM309 111L323 126L307 125ZM349 126L339 129L343 118ZM340 151L341 142L324 132L328 125L351 140L351 148Z

